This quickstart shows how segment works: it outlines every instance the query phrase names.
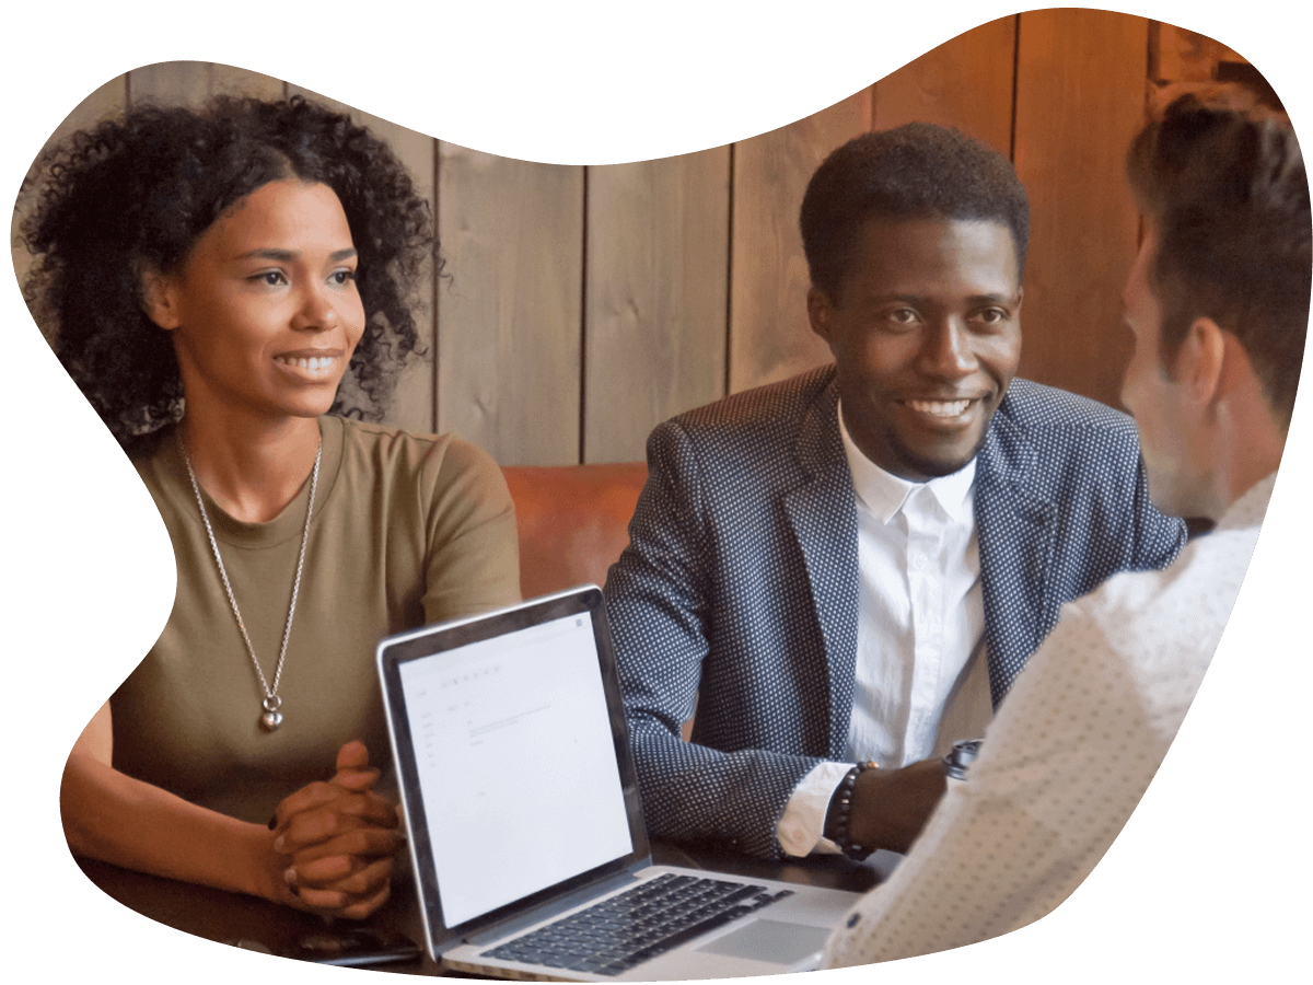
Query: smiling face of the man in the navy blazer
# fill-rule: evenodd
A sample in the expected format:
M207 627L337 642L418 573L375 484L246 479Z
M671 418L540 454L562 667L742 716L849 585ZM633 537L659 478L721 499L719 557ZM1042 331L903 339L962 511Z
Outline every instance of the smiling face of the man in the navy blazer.
M914 482L976 456L1022 355L1006 225L873 219L839 303L813 288L807 311L834 353L843 423L863 454Z

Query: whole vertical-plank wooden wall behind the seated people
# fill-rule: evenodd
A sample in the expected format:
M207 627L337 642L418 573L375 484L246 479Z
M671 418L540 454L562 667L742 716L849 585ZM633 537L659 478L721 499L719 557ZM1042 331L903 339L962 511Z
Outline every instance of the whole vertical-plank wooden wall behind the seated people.
M804 189L839 143L916 118L1012 150L1033 213L1022 373L1116 403L1137 232L1121 155L1149 53L1159 76L1194 77L1211 71L1195 49L1220 49L1166 25L1150 45L1149 26L1073 8L1003 17L794 123L595 165L587 185L584 167L467 151L362 112L386 105L352 108L435 201L452 274L436 302L428 285L418 301L429 361L400 381L387 423L456 429L504 465L632 460L658 422L829 361L806 319ZM143 66L100 87L59 133L147 97L239 91L303 89L234 66ZM11 252L21 277L26 253L13 242Z

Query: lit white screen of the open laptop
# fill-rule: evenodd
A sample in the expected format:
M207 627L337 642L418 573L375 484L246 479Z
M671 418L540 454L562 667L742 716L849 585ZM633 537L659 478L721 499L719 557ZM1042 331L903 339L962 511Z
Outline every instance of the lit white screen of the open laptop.
M398 674L445 926L633 851L588 612L407 659Z

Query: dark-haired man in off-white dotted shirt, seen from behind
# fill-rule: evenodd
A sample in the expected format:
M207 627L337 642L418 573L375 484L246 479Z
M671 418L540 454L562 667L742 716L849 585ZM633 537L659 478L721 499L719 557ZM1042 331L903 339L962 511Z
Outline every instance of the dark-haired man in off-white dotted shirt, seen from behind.
M1148 789L1239 594L1308 339L1304 156L1288 120L1215 88L1155 116L1127 169L1145 235L1123 294L1136 348L1121 398L1154 503L1215 527L1165 571L1064 608L965 784L831 939L835 967L987 940L1062 904Z

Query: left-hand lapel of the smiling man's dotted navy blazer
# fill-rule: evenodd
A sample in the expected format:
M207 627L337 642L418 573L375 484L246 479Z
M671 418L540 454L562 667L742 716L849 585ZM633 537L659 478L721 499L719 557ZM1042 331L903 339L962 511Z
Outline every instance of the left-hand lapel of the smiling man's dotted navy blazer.
M831 382L804 414L797 440L804 481L784 496L825 641L818 683L825 680L830 695L830 758L848 743L857 659L857 512L838 402Z

